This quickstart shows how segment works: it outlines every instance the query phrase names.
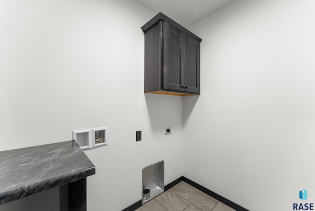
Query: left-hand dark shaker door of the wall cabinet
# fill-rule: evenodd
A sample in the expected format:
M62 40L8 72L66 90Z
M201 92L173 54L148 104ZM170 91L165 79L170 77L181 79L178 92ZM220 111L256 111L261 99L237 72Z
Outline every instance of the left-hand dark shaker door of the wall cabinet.
M163 24L163 89L184 91L182 76L185 57L185 34L164 21Z

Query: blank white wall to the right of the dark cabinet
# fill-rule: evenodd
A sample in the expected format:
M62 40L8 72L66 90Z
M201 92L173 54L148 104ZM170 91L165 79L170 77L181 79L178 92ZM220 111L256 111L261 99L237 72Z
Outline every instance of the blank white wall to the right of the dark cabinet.
M315 202L315 1L235 0L189 29L201 94L184 99L184 176L252 211Z

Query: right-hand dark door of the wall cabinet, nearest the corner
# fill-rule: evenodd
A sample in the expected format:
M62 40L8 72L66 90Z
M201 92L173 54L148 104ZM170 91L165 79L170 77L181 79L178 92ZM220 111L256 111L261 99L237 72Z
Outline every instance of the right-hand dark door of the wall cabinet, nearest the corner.
M185 37L185 65L184 86L185 91L200 92L200 42L189 35Z

